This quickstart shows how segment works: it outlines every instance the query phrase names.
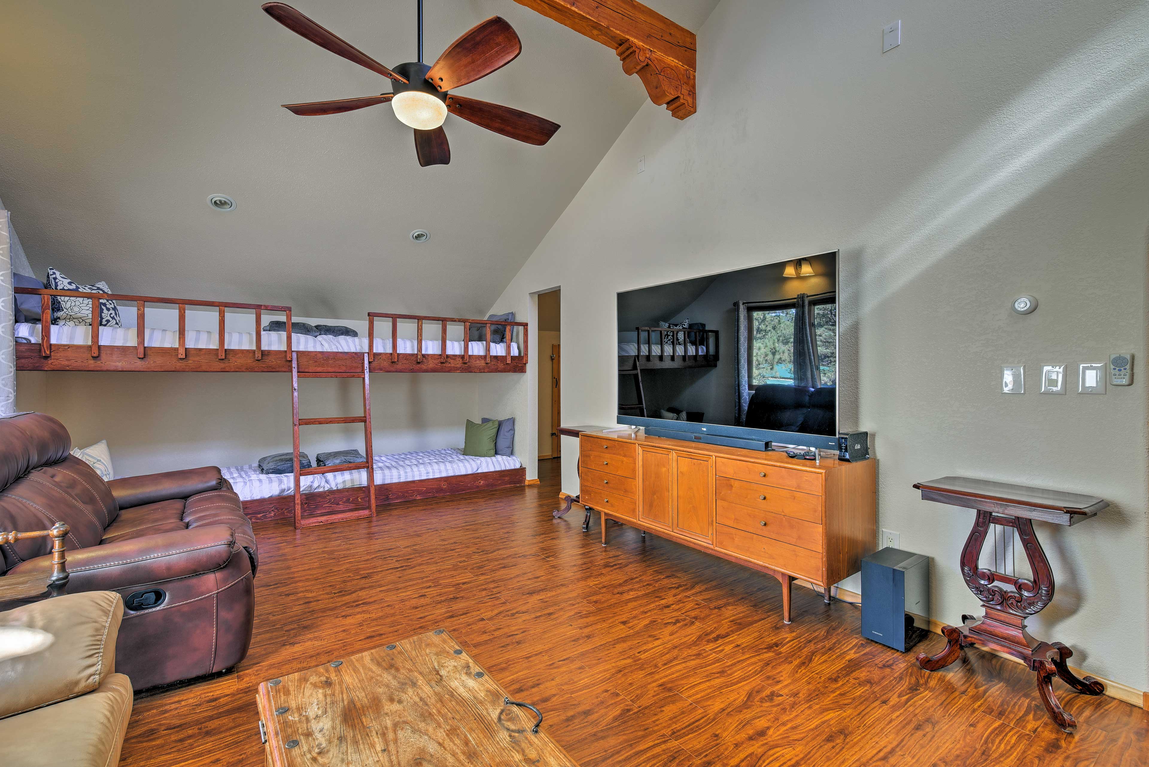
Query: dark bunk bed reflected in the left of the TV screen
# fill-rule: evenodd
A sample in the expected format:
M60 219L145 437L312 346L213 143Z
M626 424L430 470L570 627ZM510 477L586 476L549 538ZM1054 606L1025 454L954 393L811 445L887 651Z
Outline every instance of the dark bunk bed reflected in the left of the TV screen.
M642 374L647 370L718 367L718 331L705 328L635 328L634 343L619 333L618 375L634 382L634 402L618 404L619 415L647 417ZM622 391L622 390L619 390Z

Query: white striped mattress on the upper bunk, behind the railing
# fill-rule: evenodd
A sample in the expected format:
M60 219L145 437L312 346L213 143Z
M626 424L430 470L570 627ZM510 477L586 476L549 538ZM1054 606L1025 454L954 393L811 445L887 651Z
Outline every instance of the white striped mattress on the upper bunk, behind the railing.
M179 346L179 336L175 330L156 330L146 328L144 336L145 346ZM184 345L187 348L219 348L218 333L207 330L188 330L185 332ZM40 324L38 322L17 322L16 338L25 339L33 344L40 343ZM286 348L287 333L262 332L261 345L264 351L276 351ZM367 352L367 338L350 338L347 336L304 336L292 333L292 350L296 352ZM91 325L52 325L53 344L79 344L87 346L92 343ZM224 348L255 348L255 333L225 332ZM414 354L416 350L414 338L400 338L400 354ZM136 346L136 328L100 328L100 344L103 346ZM375 339L376 353L391 353L391 338ZM423 339L424 354L441 354L442 343L439 339ZM463 342L448 340L448 354L462 354ZM472 355L485 355L486 344L481 340L470 342L470 353ZM511 356L518 356L518 344L511 343ZM506 344L491 344L492 356L504 356L507 354Z

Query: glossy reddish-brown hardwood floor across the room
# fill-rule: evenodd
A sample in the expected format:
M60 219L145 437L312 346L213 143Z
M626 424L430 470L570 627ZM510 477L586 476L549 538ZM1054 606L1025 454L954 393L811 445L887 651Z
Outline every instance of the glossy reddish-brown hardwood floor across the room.
M255 689L446 628L583 767L1149 764L1149 714L1055 682L1058 730L1033 674L981 652L926 673L858 636L858 608L615 526L610 546L562 520L542 482L388 506L296 532L256 524L255 637L234 674L136 701L121 764L263 765Z

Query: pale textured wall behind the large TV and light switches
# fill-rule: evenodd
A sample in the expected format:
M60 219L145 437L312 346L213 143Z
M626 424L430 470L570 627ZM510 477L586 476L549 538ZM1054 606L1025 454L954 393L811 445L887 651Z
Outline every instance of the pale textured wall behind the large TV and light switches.
M617 291L841 248L841 423L874 435L879 524L933 558L933 615L977 608L956 567L972 512L915 481L1102 496L1095 520L1039 524L1058 586L1032 632L1144 690L1149 374L1048 397L1034 369L1149 363L1147 28L1134 0L724 0L699 34L699 113L646 105L495 306L533 315L562 286L563 421L611 424ZM1010 312L1020 293L1034 314ZM1030 393L998 393L1005 363ZM526 378L487 382L480 407L535 417ZM537 446L516 450L532 470Z

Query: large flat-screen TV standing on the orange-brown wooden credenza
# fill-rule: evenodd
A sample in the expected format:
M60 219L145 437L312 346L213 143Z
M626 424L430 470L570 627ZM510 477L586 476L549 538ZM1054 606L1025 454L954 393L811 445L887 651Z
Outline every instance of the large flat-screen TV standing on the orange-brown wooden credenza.
M838 448L838 253L618 293L618 422Z

